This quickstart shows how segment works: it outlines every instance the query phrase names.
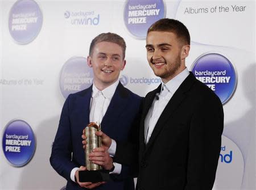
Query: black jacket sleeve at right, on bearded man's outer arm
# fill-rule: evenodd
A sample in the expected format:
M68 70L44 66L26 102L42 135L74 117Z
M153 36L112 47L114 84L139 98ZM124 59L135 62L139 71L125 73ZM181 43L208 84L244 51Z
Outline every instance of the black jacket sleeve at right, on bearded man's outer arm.
M210 190L220 156L224 112L217 96L205 99L191 119L185 190Z

